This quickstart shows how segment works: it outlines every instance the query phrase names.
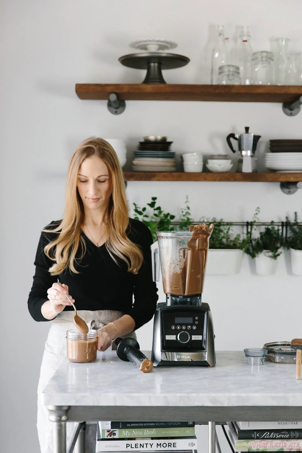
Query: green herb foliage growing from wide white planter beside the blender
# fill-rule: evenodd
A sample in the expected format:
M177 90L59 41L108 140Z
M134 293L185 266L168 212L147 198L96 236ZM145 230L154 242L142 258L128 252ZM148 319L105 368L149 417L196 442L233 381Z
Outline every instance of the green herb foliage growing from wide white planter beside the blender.
M214 223L209 242L210 249L242 249L243 239L240 234L234 236L231 222L224 222L223 219L217 220L213 217L210 223Z

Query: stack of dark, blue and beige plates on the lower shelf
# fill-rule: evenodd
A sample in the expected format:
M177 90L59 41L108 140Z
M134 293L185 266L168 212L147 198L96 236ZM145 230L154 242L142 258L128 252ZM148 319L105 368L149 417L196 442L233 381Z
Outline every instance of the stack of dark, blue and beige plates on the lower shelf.
M137 150L134 151L132 161L133 171L176 171L175 153L170 151L173 142L167 141L167 137L159 137L159 140L139 142Z

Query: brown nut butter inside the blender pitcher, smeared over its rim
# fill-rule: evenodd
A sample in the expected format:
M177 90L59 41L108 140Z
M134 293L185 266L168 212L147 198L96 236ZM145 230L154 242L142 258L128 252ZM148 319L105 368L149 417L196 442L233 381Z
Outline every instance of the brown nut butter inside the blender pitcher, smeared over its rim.
M202 293L209 239L213 228L212 223L209 228L204 223L190 226L192 236L187 241L187 247L179 248L177 266L169 266L168 275L163 279L166 294L192 296Z

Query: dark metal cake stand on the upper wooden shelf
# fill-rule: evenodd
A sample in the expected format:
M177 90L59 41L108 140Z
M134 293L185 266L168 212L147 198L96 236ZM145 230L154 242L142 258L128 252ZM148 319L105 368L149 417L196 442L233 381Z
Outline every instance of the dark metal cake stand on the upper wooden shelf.
M142 83L166 83L162 74L163 69L186 66L189 61L190 59L183 55L165 52L129 53L129 55L119 58L119 62L124 66L147 69L146 77Z

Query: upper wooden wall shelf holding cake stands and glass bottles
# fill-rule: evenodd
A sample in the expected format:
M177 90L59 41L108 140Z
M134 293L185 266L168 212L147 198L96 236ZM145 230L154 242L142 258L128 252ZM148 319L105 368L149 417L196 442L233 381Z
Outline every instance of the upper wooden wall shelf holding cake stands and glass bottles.
M115 93L124 101L292 103L302 96L302 86L77 83L76 93L80 99L95 100L108 100L109 95Z

